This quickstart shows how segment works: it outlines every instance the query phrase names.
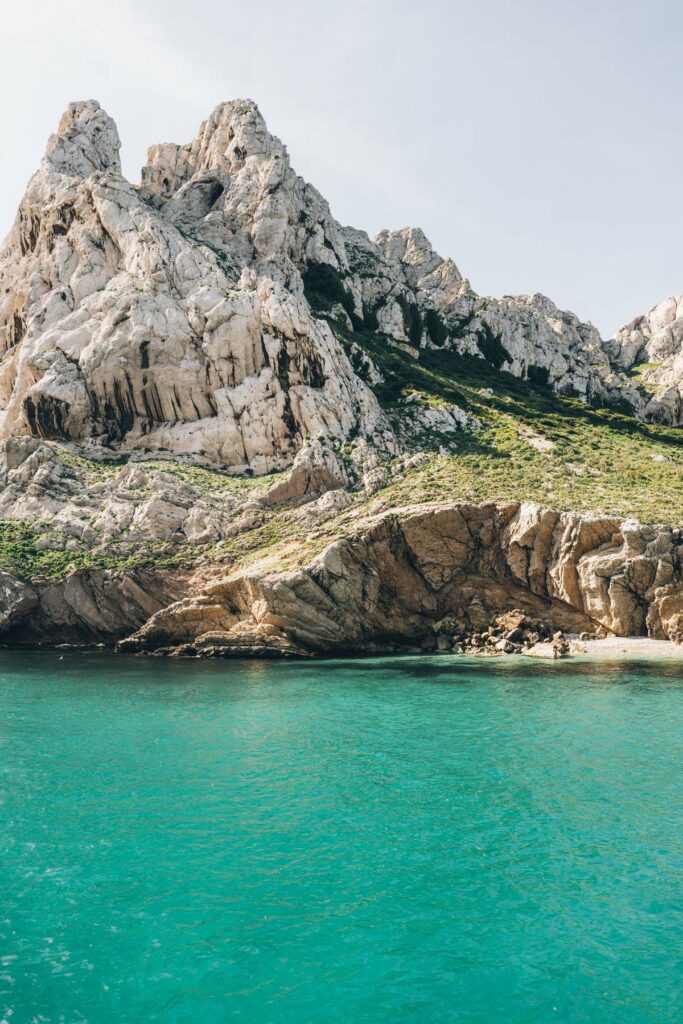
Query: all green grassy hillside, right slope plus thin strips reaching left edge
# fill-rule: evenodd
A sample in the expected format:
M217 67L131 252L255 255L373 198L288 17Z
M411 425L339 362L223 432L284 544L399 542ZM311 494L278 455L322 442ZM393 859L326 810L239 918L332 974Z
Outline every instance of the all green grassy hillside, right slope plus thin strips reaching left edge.
M306 521L298 509L263 509L258 521L220 542L193 546L176 541L114 539L104 545L54 550L45 545L50 527L0 522L0 569L26 578L61 577L79 567L131 569L135 566L189 566L247 562L276 553L278 562L294 565L353 527L368 512L432 501L530 500L560 510L635 516L642 522L683 525L683 431L643 424L607 409L591 409L578 399L554 394L542 384L520 381L483 359L439 349L420 352L419 360L378 333L359 327L333 330L357 362L357 348L372 357L383 375L375 387L388 416L404 423L416 409L458 406L476 426L442 433L423 430L408 439L409 449L426 453L407 469L400 459L386 468L386 482L368 497L353 494L352 504L323 522ZM352 442L351 442L352 443ZM350 445L340 449L349 455ZM114 479L125 460L110 464L58 455L87 490ZM272 482L240 478L186 463L150 461L198 496L225 494L238 501L258 499Z

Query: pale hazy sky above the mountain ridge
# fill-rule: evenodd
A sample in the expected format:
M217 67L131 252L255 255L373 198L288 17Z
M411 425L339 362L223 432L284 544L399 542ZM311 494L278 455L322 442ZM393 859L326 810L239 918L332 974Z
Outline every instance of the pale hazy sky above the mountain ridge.
M0 234L72 99L124 171L249 96L335 216L420 225L482 294L603 334L683 292L674 0L20 0L4 5Z

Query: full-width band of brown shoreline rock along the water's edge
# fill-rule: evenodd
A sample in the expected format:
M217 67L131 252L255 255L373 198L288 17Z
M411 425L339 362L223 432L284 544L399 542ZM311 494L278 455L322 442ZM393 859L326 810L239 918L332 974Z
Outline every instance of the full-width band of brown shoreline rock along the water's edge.
M319 554L65 580L0 578L0 639L190 656L567 652L683 641L680 530L531 503L442 503L351 520Z

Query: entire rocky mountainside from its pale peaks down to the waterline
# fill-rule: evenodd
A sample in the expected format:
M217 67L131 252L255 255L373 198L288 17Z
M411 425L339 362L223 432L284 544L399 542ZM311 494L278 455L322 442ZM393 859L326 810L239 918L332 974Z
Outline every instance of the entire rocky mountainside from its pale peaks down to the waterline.
M683 297L603 340L480 296L338 223L250 100L137 185L119 146L72 103L0 254L3 642L683 640Z

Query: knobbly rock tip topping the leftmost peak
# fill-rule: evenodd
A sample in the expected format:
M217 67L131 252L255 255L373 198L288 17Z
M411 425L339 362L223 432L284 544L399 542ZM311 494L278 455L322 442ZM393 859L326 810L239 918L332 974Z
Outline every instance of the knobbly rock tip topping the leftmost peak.
M93 171L121 173L121 139L114 120L95 99L70 103L50 135L44 167L85 178Z

